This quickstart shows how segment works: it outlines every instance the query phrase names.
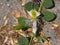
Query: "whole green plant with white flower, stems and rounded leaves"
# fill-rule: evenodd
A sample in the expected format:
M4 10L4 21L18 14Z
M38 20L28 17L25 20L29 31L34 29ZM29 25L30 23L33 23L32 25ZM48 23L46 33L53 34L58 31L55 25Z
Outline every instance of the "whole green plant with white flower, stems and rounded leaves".
M42 42L42 40L46 40L47 37L45 35L36 36L37 21L38 21L37 19L39 16L41 16L40 17L41 19L39 19L39 21L45 20L45 21L50 22L53 19L55 19L55 17L56 17L55 14L53 12L50 12L47 10L47 9L51 9L53 6L54 6L54 4L53 4L52 0L33 0L24 5L25 10L31 16L32 32L31 32L31 36L30 36L30 38L31 38L30 41L28 41L27 37L21 36L20 38L18 38L19 45L30 45L30 43L33 41L34 37L36 37L38 39L38 42ZM26 23L29 21L26 21L26 20L29 20L29 19L27 19L25 17L18 18L19 24L17 26L15 26L15 29L20 30L23 28L28 29L29 27L31 27L28 23ZM41 23L41 22L39 22L39 23ZM26 30L23 30L24 33L26 33ZM38 30L40 30L40 29L38 29Z

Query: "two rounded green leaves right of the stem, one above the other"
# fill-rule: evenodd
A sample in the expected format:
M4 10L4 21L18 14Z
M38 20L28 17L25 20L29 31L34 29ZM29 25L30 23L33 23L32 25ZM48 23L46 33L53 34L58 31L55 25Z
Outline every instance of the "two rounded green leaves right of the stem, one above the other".
M53 0L43 0L43 1L44 1L43 7L47 9L52 8L54 6ZM52 21L56 18L55 14L49 11L43 11L42 15L45 21Z

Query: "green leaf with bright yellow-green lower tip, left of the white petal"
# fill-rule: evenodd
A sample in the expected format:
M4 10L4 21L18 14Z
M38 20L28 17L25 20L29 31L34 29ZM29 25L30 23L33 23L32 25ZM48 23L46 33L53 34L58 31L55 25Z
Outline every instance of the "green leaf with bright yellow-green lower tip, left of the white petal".
M22 29L22 28L27 28L29 27L28 23L27 23L27 18L25 17L20 17L18 18L18 23L19 25L15 26L16 30Z

